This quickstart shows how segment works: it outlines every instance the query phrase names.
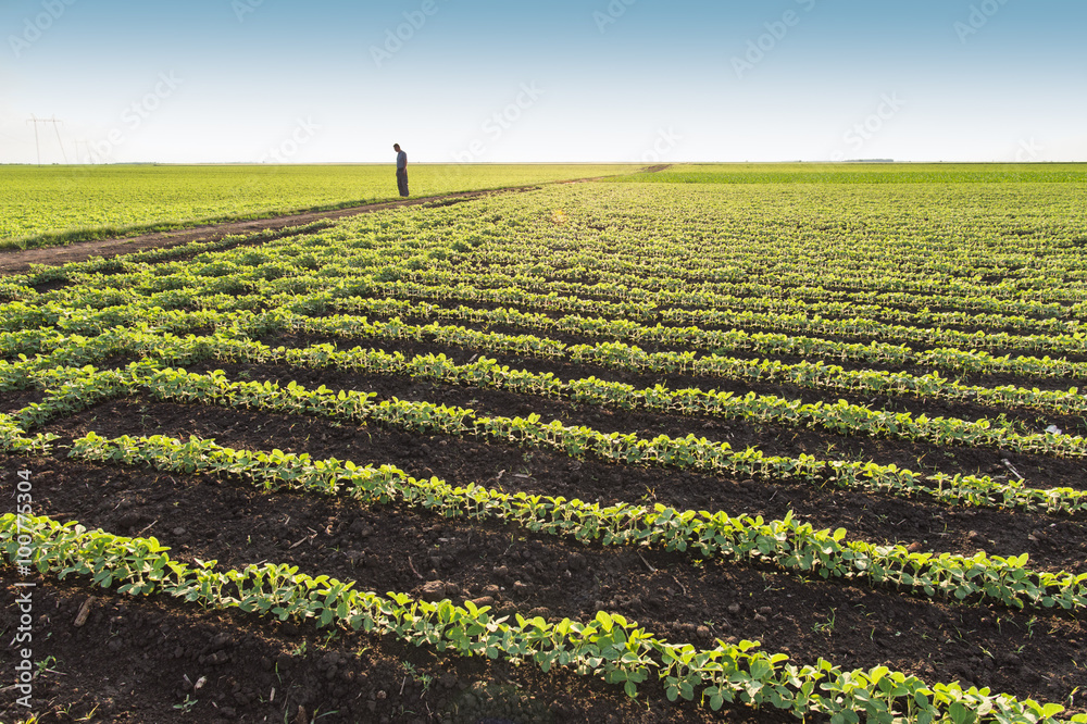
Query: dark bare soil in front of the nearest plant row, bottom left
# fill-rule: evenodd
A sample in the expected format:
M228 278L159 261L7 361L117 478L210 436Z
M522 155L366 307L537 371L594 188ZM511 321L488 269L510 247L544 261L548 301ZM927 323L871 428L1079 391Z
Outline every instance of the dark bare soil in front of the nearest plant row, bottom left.
M13 583L0 575L7 600L16 595ZM47 724L710 721L691 706L634 702L571 672L436 656L362 634L329 638L308 624L120 596L75 579L36 583L34 631L43 640L34 650L47 671L33 700L42 713L36 721ZM88 599L90 614L76 627ZM0 608L0 627L11 631L15 612ZM24 715L10 691L0 692L0 719ZM738 711L729 721L791 720Z

